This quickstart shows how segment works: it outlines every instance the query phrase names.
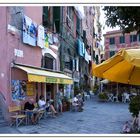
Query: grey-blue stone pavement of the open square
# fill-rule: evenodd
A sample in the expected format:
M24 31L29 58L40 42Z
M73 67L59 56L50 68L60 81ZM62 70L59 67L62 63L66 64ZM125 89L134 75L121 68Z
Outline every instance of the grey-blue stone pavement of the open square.
M15 134L120 134L126 120L131 120L128 104L85 102L83 112L64 112L57 118L42 119L38 125L0 128L0 133Z

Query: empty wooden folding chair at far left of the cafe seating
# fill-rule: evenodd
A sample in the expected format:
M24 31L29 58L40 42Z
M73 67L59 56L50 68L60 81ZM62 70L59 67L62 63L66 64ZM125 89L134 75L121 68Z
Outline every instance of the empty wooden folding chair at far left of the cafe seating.
M26 121L27 124L27 116L23 114L21 106L9 106L8 109L9 113L11 113L10 126L15 125L18 127L20 124L24 123L24 121Z

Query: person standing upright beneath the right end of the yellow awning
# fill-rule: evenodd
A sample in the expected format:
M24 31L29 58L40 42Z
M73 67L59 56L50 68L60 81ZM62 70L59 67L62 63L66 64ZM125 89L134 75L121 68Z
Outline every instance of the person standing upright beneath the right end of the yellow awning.
M62 93L62 88L60 88L59 91L56 93L55 101L56 101L57 112L59 112L60 110L61 114L63 111L62 99L63 99L63 93Z

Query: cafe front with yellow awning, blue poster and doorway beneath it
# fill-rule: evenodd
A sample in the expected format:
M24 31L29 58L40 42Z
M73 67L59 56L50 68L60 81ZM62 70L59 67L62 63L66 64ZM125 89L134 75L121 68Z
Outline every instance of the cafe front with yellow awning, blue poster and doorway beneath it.
M45 99L54 99L59 85L73 84L72 78L61 72L21 64L14 64L12 67L11 81L14 104L22 104L28 98L38 101L40 95L44 95Z

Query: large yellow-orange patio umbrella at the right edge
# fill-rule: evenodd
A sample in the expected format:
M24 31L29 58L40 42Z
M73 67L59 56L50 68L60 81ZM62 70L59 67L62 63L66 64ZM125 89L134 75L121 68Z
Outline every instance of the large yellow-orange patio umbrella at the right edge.
M140 49L121 49L110 59L94 66L93 74L114 82L140 85Z

